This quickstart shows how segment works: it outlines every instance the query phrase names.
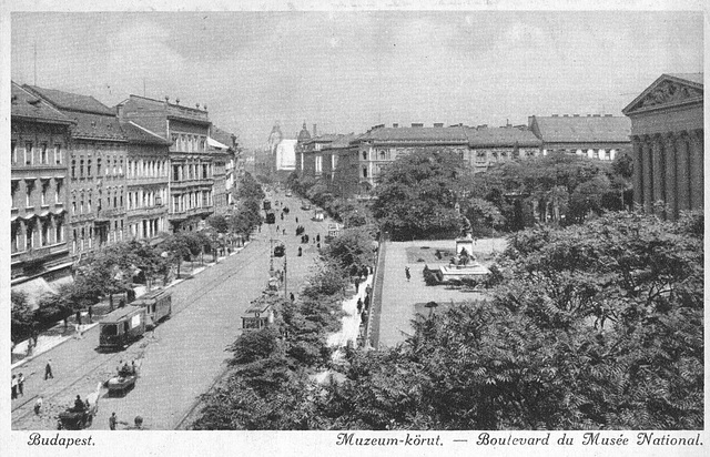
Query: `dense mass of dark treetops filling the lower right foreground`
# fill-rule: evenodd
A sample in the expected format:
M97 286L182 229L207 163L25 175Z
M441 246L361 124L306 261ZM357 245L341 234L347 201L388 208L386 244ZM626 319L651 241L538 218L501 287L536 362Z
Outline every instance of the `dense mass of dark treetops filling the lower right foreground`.
M329 302L282 302L275 327L232 347L237 374L195 427L702 429L702 236L701 214L521 231L493 299L440 304L404 344L349 352L326 385L308 375L327 366L311 344L335 324Z

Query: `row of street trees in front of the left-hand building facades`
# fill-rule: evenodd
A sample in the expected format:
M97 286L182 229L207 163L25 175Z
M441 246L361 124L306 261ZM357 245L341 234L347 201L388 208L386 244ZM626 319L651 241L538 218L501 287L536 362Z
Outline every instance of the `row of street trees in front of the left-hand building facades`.
M133 240L89 253L74 266L72 284L41 296L36 307L26 294L12 292L12 341L22 341L103 298L108 297L111 306L114 295L125 294L130 299L134 283L149 287L156 281L168 284L180 277L183 262L202 260L205 253L216 256L225 250L231 234L248 240L262 222L258 206L264 192L247 173L240 180L235 197L239 204L234 211L210 216L202 230L161 233L158 243Z

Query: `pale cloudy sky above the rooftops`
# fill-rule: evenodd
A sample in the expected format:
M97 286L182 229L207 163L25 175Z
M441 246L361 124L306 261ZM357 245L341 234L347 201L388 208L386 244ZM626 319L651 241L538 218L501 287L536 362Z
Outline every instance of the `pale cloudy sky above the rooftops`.
M611 113L661 73L702 71L700 12L13 13L12 79L207 104L246 146L378 123Z

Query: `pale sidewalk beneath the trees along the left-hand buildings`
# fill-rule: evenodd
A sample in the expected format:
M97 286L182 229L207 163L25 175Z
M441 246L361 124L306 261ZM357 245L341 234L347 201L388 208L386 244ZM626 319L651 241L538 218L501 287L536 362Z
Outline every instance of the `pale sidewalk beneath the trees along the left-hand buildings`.
M244 246L241 247L236 247L231 254L227 254L227 256L232 256L235 255L237 253L240 253L244 247L246 247L246 245L250 242L244 243ZM181 277L181 278L176 278L173 280L170 284L168 284L164 288L169 288L172 287L176 284L182 283L183 281L185 281L187 277L192 277L199 273L202 273L203 271L205 271L209 267L212 267L216 264L219 264L220 262L224 261L226 258L225 257L217 257L216 262L213 263L205 263L204 266L199 266L195 267L189 276L186 277ZM135 292L135 297L140 297L142 295L144 295L145 293L148 293L148 288L144 285L139 285L136 287L133 288L133 291ZM118 308L118 299L114 298L113 299L113 307L109 304L109 299L105 298L99 303L97 303L95 305L93 305L91 307L92 309L92 323L88 323L89 321L89 313L88 312L81 312L81 319L82 319L82 334L85 334L88 331L90 331L91 328L95 327L97 325L99 325L99 322L101 322L101 318L103 316L105 316L106 314L111 313L111 311L116 309ZM63 321L59 321L54 326L52 326L51 328L42 332L39 337L37 338L37 346L34 346L34 348L32 349L32 354L27 355L27 349L28 349L28 344L29 344L29 339L26 339L23 342L18 343L14 348L12 349L12 355L11 358L16 359L16 362L13 362L10 365L10 369L14 369L17 367L20 367L29 362L31 362L33 358L47 353L48 351L59 346L62 343L65 343L70 339L75 339L77 338L77 331L74 327L75 324L75 318L74 315L72 314L70 317L67 318L67 324L68 326L64 327L64 323Z

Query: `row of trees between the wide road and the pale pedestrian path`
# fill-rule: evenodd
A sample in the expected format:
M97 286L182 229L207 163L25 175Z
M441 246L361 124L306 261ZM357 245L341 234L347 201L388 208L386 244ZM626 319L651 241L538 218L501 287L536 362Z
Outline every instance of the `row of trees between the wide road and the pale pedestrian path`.
M227 378L203 396L195 429L314 429L320 387L314 375L331 367L327 336L341 327L342 301L352 268L374 261L372 233L345 230L323 250L317 270L297 302L266 291L256 302L270 304L274 323L245 332L227 351ZM314 422L315 420L315 422Z

